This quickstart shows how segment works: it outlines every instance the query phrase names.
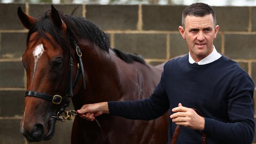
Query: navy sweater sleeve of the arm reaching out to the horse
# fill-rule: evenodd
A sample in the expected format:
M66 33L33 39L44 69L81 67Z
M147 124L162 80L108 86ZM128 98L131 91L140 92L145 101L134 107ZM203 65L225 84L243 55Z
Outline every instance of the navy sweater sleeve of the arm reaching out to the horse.
M126 102L109 101L109 113L134 120L152 120L160 117L170 108L164 83L162 72L160 83L149 98Z

